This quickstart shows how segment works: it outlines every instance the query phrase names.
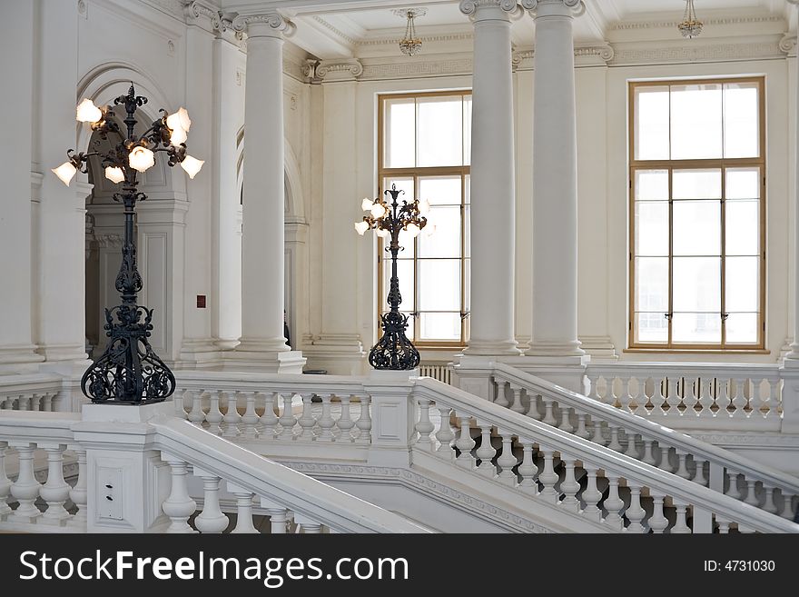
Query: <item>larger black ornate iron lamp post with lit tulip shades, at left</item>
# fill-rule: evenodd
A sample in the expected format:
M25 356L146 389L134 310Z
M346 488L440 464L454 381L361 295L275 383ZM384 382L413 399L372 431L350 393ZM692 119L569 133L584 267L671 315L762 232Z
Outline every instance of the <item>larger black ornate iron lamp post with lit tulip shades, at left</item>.
M172 395L175 379L172 371L153 352L148 338L153 330L153 310L136 303L136 294L143 288L142 276L136 265L136 241L133 234L133 216L136 202L147 195L137 191L137 175L155 164L155 154L167 154L170 166L181 164L183 170L194 177L202 167L202 160L186 154L186 133L192 124L189 114L181 108L153 122L142 135L134 134L137 124L136 110L147 103L147 98L136 95L131 84L127 95L113 100L114 105L124 105L126 117L125 134L111 115L113 107L97 107L84 99L77 107L76 119L89 123L102 140L109 135L118 138L118 143L108 151L99 149L88 153L66 152L68 161L53 172L69 185L74 174L86 173L88 160L93 155L101 159L105 177L114 184L122 183L122 193L113 194L113 200L124 206L124 242L122 264L116 276L115 287L122 295L122 304L105 309L105 330L110 338L103 355L84 373L81 390L93 403L144 404L163 402ZM94 142L100 146L100 140ZM113 320L114 314L116 321Z

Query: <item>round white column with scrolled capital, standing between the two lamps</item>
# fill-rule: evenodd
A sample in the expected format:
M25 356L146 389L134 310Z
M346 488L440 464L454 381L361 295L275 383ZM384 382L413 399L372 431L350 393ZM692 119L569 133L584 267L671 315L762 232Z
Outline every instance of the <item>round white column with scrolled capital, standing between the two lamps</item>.
M278 13L238 16L247 30L244 91L242 342L231 362L261 371L301 373L305 360L283 336L284 134L283 33Z

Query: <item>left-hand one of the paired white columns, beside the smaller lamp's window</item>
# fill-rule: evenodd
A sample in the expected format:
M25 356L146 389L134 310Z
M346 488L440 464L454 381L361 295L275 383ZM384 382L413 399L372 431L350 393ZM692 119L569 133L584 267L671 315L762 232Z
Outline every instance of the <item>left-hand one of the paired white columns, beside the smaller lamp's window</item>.
M518 355L513 329L516 196L510 19L514 1L463 0L474 22L471 355Z

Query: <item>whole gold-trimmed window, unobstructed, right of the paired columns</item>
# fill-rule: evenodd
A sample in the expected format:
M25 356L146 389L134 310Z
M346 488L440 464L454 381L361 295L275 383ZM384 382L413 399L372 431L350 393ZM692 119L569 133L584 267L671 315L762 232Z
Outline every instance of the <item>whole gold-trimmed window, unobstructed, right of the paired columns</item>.
M764 77L634 82L630 348L764 348Z

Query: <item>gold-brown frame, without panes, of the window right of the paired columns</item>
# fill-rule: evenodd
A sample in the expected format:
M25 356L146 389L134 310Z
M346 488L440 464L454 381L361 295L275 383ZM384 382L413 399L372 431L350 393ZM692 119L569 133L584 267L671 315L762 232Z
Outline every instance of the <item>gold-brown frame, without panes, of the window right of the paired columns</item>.
M671 85L723 85L725 83L749 83L757 85L758 95L758 144L759 155L754 158L700 158L700 159L667 159L667 160L636 160L636 88L671 86ZM633 351L653 351L653 352L704 352L704 353L731 353L731 352L764 352L765 351L765 308L766 308L766 144L765 144L765 76L733 76L733 77L709 77L709 78L689 78L689 79L663 79L663 80L641 80L628 81L628 313L627 313L627 349ZM671 105L671 102L669 102ZM724 114L722 114L724 117ZM724 123L724 121L722 121ZM724 129L723 129L724 130ZM723 133L722 133L723 134ZM724 144L722 144L724 146ZM757 313L757 342L756 343L728 343L726 341L725 317L725 260L726 260L726 171L730 168L758 168L760 170L760 210L759 210L759 292L758 292L758 313ZM673 340L673 319L674 319L674 203L672 198L672 180L675 170L700 170L715 169L720 170L721 175L721 200L720 200L720 312L721 317L721 337L719 343L676 343ZM636 171L646 170L666 170L668 172L668 332L665 343L636 342Z

